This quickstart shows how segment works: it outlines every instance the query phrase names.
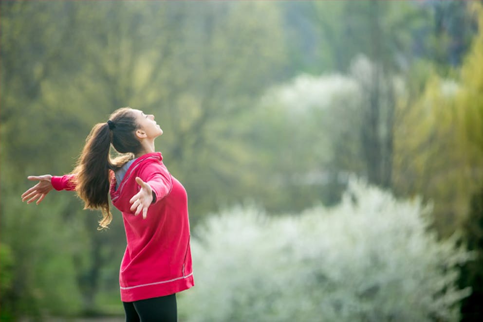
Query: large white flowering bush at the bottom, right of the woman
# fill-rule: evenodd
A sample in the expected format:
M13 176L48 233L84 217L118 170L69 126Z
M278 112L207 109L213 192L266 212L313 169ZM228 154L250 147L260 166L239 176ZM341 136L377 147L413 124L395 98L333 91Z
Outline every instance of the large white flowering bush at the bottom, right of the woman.
M297 216L237 207L193 233L183 321L458 321L455 240L427 208L353 180L342 202Z

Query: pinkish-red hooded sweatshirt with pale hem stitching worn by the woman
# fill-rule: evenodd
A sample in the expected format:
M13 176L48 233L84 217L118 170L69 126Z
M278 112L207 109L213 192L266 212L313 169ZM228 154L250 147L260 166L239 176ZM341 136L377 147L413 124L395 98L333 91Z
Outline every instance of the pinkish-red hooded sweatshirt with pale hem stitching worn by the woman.
M117 190L116 179L111 179L112 204L122 212L127 239L119 273L123 302L170 295L194 286L186 190L162 160L159 152L139 157ZM52 185L56 190L74 190L73 176L52 177ZM140 189L136 177L156 194L146 219L130 211L129 200Z

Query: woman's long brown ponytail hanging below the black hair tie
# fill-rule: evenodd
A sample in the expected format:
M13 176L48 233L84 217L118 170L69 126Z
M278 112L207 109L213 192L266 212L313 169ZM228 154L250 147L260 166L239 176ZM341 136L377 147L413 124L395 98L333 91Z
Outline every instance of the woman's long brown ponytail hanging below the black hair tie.
M109 157L111 141L112 132L107 123L94 125L73 171L75 190L85 202L84 209L102 212L99 230L107 228L112 221L109 210L109 172L113 168Z

